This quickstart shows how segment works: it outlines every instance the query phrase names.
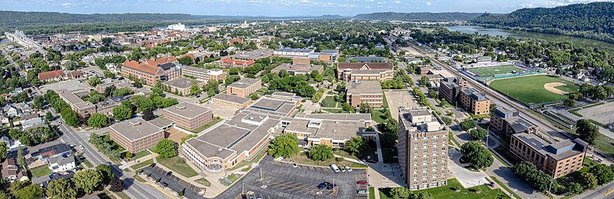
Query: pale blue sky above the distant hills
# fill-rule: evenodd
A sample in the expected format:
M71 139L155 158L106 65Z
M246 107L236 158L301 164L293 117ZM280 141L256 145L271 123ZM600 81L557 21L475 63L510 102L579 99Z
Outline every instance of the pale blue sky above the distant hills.
M0 10L60 13L185 13L192 15L354 16L377 12L510 13L614 0L0 0Z

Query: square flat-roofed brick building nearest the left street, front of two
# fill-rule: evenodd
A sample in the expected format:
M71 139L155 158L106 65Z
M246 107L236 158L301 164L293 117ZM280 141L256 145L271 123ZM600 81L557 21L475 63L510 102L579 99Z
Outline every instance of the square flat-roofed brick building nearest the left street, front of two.
M109 129L111 139L131 153L152 148L164 138L164 129L142 118L119 122Z

